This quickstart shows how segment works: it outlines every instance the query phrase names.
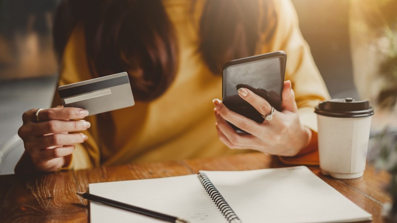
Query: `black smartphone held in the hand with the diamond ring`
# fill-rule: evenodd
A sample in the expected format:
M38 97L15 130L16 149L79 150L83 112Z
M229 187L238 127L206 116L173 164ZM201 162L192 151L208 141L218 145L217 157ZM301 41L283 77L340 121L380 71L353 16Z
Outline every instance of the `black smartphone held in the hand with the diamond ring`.
M277 51L251 56L225 63L222 75L222 98L224 105L258 123L264 121L251 104L239 96L239 88L248 88L266 99L276 110L281 110L287 54ZM263 114L266 115L266 114ZM238 133L247 133L229 123Z

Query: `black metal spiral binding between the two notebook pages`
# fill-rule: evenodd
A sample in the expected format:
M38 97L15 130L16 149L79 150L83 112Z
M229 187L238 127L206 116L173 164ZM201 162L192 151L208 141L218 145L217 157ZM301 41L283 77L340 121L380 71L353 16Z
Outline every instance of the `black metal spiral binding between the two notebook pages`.
M211 199L214 201L218 209L222 212L229 223L241 223L242 221L237 217L236 213L234 213L233 209L227 204L225 198L220 194L220 192L215 188L215 186L211 183L210 179L208 179L205 173L198 173L198 179L200 180L202 186L207 191L208 195L210 195Z

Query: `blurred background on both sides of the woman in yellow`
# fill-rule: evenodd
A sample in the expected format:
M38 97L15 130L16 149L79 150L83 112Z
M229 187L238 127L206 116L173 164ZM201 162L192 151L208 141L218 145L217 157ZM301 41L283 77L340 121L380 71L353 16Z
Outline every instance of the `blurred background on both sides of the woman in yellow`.
M0 174L12 173L13 168L4 169L7 166L4 162L15 162L23 152L21 149L7 154L1 151L1 145L10 138L12 141L21 126L22 113L50 106L57 79L51 29L58 2L0 0L0 162L3 163ZM381 104L387 108L382 116L387 122L388 115L395 114L397 94L397 68L393 69L397 67L397 43L393 45L396 1L292 2L303 36L331 96L363 98ZM379 81L379 73L385 73L382 76L385 81ZM375 88L372 82L376 82ZM380 89L384 88L386 102L379 99ZM8 158L4 159L5 156Z

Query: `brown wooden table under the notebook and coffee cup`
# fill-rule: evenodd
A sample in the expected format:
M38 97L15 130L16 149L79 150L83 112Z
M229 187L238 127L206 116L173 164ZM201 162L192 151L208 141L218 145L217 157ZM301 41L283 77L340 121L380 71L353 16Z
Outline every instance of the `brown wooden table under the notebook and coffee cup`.
M58 173L0 176L0 222L87 222L87 201L76 192L87 191L89 183L170 177L199 170L250 170L286 165L272 156L249 153L218 158L143 163ZM367 166L358 179L338 180L323 176L318 167L309 168L362 209L383 222L382 204L390 202L383 188L390 176Z

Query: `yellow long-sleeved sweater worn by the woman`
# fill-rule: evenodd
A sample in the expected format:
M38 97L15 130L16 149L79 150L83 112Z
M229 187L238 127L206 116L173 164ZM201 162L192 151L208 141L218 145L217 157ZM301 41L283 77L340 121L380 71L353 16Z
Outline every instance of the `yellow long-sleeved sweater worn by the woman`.
M198 27L187 19L190 2L163 1L179 41L179 67L172 85L152 102L137 102L133 107L110 112L110 120L105 120L104 115L87 117L85 120L91 123L91 128L84 132L88 140L76 145L67 168L245 152L231 150L218 139L212 99L222 98L222 78L212 74L197 53ZM274 2L278 27L272 40L260 46L257 54L277 50L287 53L286 79L293 84L301 122L316 130L313 107L328 98L328 92L301 35L292 3ZM93 78L83 50L82 28L75 28L66 45L59 85ZM53 106L56 105L60 105L58 95L54 98Z

